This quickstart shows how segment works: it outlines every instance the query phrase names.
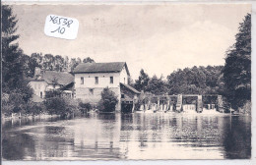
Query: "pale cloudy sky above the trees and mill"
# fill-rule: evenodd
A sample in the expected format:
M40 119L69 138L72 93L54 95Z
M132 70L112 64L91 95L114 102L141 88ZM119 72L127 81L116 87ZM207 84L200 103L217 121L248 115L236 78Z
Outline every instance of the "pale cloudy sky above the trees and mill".
M141 69L166 78L177 69L224 65L225 51L251 5L14 5L13 10L25 54L126 62L136 80ZM77 19L77 38L45 35L49 14Z

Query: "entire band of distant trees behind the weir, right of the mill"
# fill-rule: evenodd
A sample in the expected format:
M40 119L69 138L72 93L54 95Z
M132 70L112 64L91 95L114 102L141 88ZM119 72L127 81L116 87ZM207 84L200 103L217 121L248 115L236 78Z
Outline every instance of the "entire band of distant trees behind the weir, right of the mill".
M177 70L167 76L158 78L156 75L149 77L141 70L139 79L133 86L155 95L162 94L206 94L222 93L224 90L223 66L193 67Z

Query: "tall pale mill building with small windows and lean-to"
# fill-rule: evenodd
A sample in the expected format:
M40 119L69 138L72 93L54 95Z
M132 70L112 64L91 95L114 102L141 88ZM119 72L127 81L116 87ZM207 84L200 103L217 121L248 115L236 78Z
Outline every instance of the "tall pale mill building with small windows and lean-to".
M121 103L132 104L140 93L128 84L130 73L125 62L83 63L74 70L75 98L83 102L97 104L101 91L109 87L118 98L116 110L121 110Z

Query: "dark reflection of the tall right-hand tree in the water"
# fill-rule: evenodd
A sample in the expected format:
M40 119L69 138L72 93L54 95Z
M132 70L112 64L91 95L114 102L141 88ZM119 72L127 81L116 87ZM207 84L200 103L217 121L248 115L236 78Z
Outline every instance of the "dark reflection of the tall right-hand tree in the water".
M246 119L247 118L247 119ZM250 117L233 116L224 137L224 157L244 159L251 157L251 122Z

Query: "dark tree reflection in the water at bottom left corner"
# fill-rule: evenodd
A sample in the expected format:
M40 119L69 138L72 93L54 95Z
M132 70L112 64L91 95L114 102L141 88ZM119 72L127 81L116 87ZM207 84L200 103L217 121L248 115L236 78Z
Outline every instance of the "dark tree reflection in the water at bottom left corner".
M34 140L27 134L3 132L2 154L7 160L21 160L34 157Z

